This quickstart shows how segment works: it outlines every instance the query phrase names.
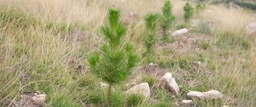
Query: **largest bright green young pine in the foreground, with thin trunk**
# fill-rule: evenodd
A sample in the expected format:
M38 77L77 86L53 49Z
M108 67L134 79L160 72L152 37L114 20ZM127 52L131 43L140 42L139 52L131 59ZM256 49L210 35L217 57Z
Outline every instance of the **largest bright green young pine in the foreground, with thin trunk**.
M109 10L108 24L101 27L106 43L103 44L101 52L89 58L92 72L109 85L108 106L111 101L111 86L124 81L138 59L132 52L131 44L126 43L126 46L122 47L127 28L119 22L119 18L119 10Z

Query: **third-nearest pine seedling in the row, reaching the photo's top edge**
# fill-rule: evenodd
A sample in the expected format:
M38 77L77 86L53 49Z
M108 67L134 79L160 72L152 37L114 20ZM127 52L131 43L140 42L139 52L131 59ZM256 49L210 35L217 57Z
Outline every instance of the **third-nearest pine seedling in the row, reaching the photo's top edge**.
M169 0L165 1L162 16L163 40L165 42L169 42L169 35L166 32L171 28L175 20L175 16L172 14L171 9L171 2Z

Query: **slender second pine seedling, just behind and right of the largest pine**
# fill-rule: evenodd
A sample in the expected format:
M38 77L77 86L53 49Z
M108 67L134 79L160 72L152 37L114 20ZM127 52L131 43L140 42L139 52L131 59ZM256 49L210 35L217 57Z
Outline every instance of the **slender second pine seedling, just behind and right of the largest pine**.
M157 29L158 14L151 13L145 17L146 32L144 35L144 44L146 47L144 56L147 57L147 63L154 61L155 48L156 48L156 29Z

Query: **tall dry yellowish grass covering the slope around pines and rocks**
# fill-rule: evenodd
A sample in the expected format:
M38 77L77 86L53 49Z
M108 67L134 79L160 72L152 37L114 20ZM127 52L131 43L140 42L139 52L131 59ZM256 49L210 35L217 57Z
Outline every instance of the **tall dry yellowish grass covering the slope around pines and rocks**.
M12 14L14 20L9 18L10 15L5 20L0 19L0 23L6 22L0 25L0 105L15 105L20 94L35 90L47 93L46 102L49 106L104 103L104 100L99 100L104 98L95 98L99 95L95 93L101 92L97 85L99 80L91 75L86 58L103 42L99 28L105 21L108 8L120 9L123 19L127 13L138 13L135 24L127 25L125 40L132 42L136 53L141 56L145 50L140 40L144 32L143 17L149 12L161 13L163 3L164 0L0 1L1 12L24 14ZM172 1L177 24L183 23L185 3L186 1ZM191 3L195 6L194 2ZM34 18L31 18L32 16ZM185 78L202 83L197 87L188 86L188 90L196 90L198 87L202 90L215 89L236 100L233 102L224 99L219 106L255 106L256 41L255 37L245 35L245 26L255 21L255 17L255 12L247 10L228 10L223 5L206 5L206 9L195 16L195 19L213 22L210 26L212 33L203 37L207 38L205 42L209 42L211 47L189 51L185 55L179 49L170 49L167 53L159 51L157 63L175 64L177 60L182 62L184 59L198 61L198 55L203 54L207 66L195 71L181 73L182 68L177 65L165 67L170 69L178 80ZM47 29L46 26L50 25L50 22L54 22L53 25L59 28ZM63 26L70 30L65 27L62 29ZM239 44L234 48L218 46L216 42L221 36L225 36L222 33L227 31L248 39L250 48L242 49ZM81 35L81 40L73 39L80 38ZM143 59L139 65L145 65ZM182 81L179 84L186 86ZM27 89L27 86L30 88ZM122 86L121 91L122 88L128 87ZM167 97L169 96L164 99L169 99ZM171 101L173 100L170 100L170 103ZM146 104L143 102L141 106ZM211 102L203 104L213 106Z

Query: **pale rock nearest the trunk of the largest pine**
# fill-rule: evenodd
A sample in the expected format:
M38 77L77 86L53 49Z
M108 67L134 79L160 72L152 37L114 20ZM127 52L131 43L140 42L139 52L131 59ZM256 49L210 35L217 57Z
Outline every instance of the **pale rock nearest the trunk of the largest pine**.
M150 96L150 88L148 83L140 83L139 85L135 85L132 88L130 88L129 90L127 90L126 92L124 92L124 94L140 94L140 95L144 95L146 97Z

